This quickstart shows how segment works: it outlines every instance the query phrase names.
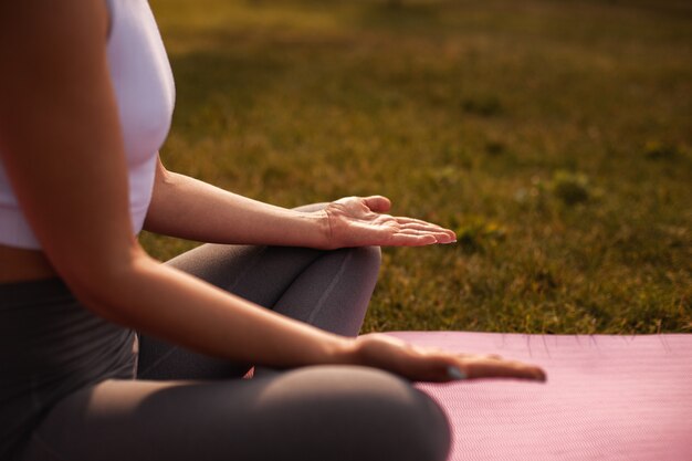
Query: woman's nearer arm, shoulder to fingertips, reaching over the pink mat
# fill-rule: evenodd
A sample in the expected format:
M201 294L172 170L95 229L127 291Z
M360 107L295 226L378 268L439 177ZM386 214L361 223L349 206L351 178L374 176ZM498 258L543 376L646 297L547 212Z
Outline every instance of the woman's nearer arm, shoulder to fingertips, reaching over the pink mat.
M103 0L0 2L0 158L45 255L86 307L241 362L356 363L436 380L450 379L449 365L472 377L543 377L518 363L343 338L147 256L132 234L107 23Z

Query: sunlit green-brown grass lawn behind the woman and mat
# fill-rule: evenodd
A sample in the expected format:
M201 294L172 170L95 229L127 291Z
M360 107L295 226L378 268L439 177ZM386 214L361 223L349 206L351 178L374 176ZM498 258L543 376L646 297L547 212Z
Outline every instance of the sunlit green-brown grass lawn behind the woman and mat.
M364 331L692 331L689 2L151 3L170 169L457 230L385 251Z

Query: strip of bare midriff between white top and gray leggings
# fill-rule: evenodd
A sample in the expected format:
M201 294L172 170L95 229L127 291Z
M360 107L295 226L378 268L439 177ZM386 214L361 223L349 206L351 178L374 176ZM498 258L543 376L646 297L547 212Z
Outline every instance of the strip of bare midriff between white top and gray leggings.
M42 251L0 244L0 283L50 279L56 275Z

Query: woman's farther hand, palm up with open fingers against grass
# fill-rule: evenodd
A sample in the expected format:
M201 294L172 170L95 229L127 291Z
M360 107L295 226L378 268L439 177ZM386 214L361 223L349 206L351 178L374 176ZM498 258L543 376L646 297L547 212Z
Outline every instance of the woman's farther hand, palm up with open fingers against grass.
M382 214L391 202L386 197L346 197L328 203L327 248L391 245L420 247L453 243L454 232L413 218Z

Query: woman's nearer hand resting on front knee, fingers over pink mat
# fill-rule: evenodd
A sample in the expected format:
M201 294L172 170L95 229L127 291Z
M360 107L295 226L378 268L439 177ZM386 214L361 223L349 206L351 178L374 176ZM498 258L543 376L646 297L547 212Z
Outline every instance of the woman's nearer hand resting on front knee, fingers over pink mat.
M506 360L496 355L452 354L417 347L380 334L359 336L355 340L354 356L357 365L381 368L416 381L479 378L546 380L545 371L534 365Z

